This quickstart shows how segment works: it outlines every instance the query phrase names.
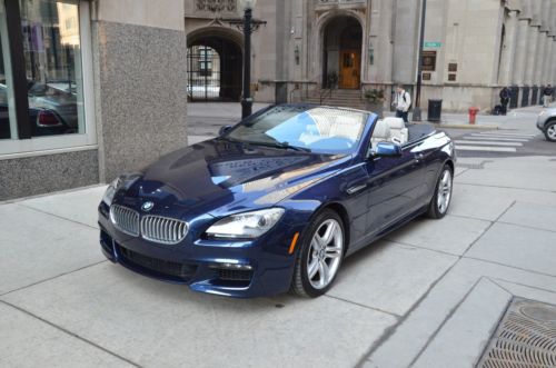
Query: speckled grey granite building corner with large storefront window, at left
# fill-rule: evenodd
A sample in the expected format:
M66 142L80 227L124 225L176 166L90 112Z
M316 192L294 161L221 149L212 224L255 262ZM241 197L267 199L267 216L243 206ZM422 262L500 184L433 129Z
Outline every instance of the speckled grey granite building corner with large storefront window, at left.
M186 145L183 13L183 0L0 0L0 201L111 181Z

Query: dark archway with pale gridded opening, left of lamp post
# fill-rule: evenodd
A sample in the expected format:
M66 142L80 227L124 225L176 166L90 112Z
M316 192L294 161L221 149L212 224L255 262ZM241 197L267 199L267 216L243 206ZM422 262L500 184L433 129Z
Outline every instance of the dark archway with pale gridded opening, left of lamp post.
M242 51L238 37L221 29L188 34L187 91L190 101L239 101Z

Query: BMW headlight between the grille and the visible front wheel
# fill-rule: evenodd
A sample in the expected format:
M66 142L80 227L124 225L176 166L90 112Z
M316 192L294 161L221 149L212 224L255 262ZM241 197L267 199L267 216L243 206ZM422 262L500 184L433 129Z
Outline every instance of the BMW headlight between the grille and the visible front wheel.
M214 238L255 239L270 230L282 215L284 208L231 215L212 225L207 235Z

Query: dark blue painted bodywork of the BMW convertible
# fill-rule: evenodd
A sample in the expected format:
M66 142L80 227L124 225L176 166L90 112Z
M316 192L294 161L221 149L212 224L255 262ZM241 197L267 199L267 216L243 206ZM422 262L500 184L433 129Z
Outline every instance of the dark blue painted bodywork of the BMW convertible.
M310 107L308 107L310 108ZM244 145L216 138L171 152L140 172L112 203L141 215L176 218L189 223L178 245L161 245L128 236L113 227L109 208L99 205L101 249L110 260L139 273L197 291L234 297L259 297L289 290L296 251L288 253L296 232L304 231L315 213L335 206L346 221L347 255L423 213L445 163L455 163L453 143L444 132L425 129L401 147L396 157L369 157L377 117L368 113L363 138L350 155L322 155ZM423 128L421 128L423 130ZM414 135L415 137L415 135ZM215 240L205 231L232 213L284 208L285 215L262 237L254 240ZM183 266L191 275L180 278L128 262L122 249ZM252 267L248 284L219 279L218 265ZM166 263L165 263L166 265Z

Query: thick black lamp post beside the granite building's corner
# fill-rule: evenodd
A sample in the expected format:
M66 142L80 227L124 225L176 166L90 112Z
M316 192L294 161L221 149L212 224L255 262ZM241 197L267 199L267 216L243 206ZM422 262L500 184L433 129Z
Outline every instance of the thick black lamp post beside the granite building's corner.
M241 97L241 118L245 119L251 115L252 98L251 98L251 33L256 31L260 24L266 24L264 20L252 18L252 8L257 0L238 0L238 9L244 12L241 19L227 19L231 26L236 26L244 31L244 89Z

